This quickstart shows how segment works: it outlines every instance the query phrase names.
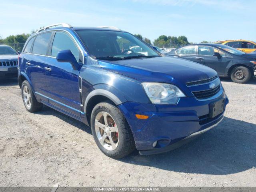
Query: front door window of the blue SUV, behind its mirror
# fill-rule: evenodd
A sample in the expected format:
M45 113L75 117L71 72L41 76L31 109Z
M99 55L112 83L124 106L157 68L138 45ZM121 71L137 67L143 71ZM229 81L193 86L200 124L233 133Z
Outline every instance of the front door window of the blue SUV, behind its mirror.
M75 56L76 60L79 61L79 50L76 47L74 41L70 36L64 32L56 32L52 43L51 56L57 57L57 54L61 50L70 50Z

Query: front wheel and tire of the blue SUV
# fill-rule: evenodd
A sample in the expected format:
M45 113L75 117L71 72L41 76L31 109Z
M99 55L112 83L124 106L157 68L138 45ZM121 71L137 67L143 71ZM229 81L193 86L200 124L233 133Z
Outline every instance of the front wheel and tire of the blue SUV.
M108 126L105 124L105 116ZM135 143L130 127L124 115L116 106L108 102L97 104L92 110L90 122L94 140L98 148L106 156L119 159L135 150Z

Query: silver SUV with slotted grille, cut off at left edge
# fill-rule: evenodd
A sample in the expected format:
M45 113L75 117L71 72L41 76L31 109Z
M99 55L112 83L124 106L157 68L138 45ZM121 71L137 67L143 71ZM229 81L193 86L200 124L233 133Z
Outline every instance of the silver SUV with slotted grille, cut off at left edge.
M18 77L18 53L10 46L0 45L0 78Z

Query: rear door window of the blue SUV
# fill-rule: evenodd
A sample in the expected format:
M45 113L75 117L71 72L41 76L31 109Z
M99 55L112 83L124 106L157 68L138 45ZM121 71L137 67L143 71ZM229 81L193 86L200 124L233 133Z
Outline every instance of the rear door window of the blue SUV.
M36 36L32 53L39 54L39 55L47 55L47 48L50 42L51 35L52 35L52 32L43 33Z

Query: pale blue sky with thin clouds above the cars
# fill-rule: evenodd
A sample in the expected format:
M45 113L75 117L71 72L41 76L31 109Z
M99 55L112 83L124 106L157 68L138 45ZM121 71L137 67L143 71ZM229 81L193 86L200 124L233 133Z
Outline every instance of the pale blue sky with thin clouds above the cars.
M0 35L41 26L116 26L151 41L160 35L189 42L256 41L255 0L0 0Z

